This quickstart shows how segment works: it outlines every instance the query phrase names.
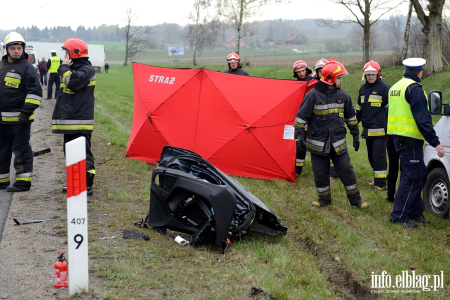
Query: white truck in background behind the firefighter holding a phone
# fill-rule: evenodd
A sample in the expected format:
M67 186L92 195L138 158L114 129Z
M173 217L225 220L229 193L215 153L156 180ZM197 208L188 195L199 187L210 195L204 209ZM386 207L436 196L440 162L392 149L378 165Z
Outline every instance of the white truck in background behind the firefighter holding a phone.
M26 46L32 46L35 52L38 53L39 56L36 57L38 62L42 60L42 57L45 57L45 61L48 61L51 50L56 50L56 55L61 59L64 58L65 51L61 49L62 44L63 42L30 41ZM104 45L87 44L87 52L89 61L92 63L95 72L101 72L105 59Z

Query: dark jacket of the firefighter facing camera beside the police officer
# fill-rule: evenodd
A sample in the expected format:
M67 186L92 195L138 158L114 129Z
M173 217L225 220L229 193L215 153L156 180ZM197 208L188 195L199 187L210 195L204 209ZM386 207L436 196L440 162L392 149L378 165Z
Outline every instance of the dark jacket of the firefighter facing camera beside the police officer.
M363 138L386 138L384 132L384 106L390 86L377 78L359 88L356 119L362 123Z

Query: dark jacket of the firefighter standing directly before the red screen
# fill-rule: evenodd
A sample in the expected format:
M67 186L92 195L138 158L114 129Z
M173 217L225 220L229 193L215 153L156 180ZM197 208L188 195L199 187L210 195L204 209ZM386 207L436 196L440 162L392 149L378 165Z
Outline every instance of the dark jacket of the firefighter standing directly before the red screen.
M308 124L306 150L327 156L331 146L338 155L347 151L344 123L351 135L359 135L350 96L319 81L301 102L294 126L301 131Z

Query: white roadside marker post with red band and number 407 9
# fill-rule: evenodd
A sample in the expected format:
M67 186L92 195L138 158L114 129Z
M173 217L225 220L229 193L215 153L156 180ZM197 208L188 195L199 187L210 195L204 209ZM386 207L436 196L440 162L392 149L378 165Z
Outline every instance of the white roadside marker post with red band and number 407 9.
M65 144L67 179L67 258L69 295L89 289L87 255L86 140Z

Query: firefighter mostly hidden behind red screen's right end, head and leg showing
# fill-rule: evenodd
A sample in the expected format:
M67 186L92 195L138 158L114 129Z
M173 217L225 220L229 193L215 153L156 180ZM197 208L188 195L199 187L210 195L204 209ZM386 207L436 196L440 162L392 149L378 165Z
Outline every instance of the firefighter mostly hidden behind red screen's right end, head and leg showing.
M312 70L308 68L306 62L303 60L297 60L292 65L293 77L299 81L310 81L314 79L314 77L309 76L312 73ZM304 165L304 159L306 158L306 138L305 131L307 129L307 125L304 126L304 130L299 130L298 128L294 128L294 137L296 144L296 152L295 152L295 173L297 176L301 175L301 171Z

